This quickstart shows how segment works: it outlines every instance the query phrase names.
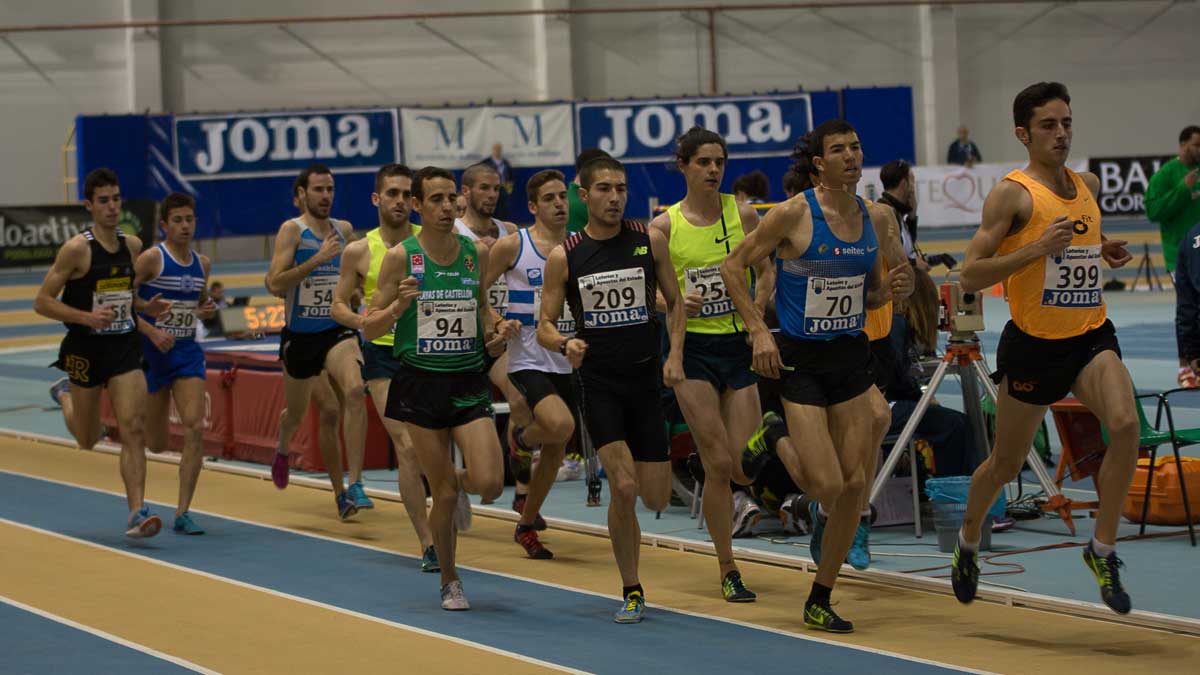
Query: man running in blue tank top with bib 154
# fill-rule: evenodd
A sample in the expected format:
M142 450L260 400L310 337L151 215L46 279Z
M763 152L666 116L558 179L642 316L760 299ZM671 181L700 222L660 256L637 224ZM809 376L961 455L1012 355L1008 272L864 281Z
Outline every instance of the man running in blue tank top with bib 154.
M280 334L283 362L283 398L280 446L271 464L275 486L288 486L288 443L308 413L313 377L326 370L342 396L342 434L350 485L342 484L342 458L336 444L318 443L344 520L374 504L362 491L367 410L362 387L359 334L331 316L342 247L354 231L350 223L329 217L334 205L334 174L312 165L296 177L293 195L304 204L300 217L284 221L275 238L275 252L266 271L266 289L284 297L287 325ZM328 416L326 416L328 417Z

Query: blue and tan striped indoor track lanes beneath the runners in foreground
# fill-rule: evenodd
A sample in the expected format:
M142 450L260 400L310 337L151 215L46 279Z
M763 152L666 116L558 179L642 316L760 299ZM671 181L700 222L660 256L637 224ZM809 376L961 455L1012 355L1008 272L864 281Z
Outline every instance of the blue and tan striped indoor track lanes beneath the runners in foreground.
M175 471L149 462L167 524ZM815 634L809 575L744 563L760 602L731 605L710 556L652 548L647 619L620 626L606 539L550 531L556 560L529 561L511 522L480 516L460 539L473 609L446 613L402 506L377 504L343 524L328 491L205 471L208 534L130 542L115 456L2 436L0 671L1094 675L1200 659L1195 638L850 580L835 599L859 632Z

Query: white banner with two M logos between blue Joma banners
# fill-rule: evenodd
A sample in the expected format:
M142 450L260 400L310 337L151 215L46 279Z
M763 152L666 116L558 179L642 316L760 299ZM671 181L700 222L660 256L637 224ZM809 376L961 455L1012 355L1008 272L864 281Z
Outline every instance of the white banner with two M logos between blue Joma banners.
M571 107L401 108L404 159L412 167L464 168L504 145L514 166L571 165Z

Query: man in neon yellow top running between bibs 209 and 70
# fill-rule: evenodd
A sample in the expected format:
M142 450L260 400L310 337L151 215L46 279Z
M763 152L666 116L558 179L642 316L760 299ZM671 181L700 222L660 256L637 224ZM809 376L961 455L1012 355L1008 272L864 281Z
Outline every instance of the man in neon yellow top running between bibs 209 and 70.
M676 166L688 183L683 201L650 222L668 241L679 293L688 312L683 350L685 380L674 393L704 467L702 508L716 549L721 595L727 602L754 602L733 561L733 492L730 480L748 485L742 449L755 432L762 408L757 377L750 370L745 324L725 292L719 265L758 225L750 204L721 195L728 151L720 135L694 126L676 141ZM756 303L766 306L775 271L760 261ZM718 413L718 414L714 414Z

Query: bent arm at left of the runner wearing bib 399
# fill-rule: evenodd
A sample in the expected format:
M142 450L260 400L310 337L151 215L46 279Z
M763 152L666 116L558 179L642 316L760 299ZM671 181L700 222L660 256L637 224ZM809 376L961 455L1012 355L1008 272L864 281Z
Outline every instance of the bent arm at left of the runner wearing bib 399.
M1022 202L1027 208L1022 209ZM1070 244L1074 226L1067 216L1062 216L1050 223L1037 241L1012 253L997 256L996 251L1013 226L1024 227L1028 221L1030 216L1022 210L1032 213L1032 201L1025 187L1012 180L1002 180L992 187L983 203L983 222L967 244L967 258L959 274L964 293L976 293L1000 283L1022 267L1062 251Z

